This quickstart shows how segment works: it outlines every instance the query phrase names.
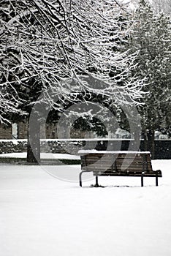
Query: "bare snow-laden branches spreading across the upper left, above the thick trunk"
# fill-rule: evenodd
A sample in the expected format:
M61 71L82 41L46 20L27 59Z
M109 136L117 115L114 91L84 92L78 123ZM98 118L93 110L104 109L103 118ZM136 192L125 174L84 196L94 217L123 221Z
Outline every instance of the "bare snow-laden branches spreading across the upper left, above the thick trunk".
M19 92L25 110L35 102L60 109L54 95L74 101L83 91L137 104L142 80L131 76L134 54L121 53L121 12L113 0L2 0L2 86Z

